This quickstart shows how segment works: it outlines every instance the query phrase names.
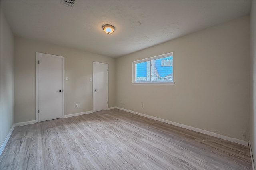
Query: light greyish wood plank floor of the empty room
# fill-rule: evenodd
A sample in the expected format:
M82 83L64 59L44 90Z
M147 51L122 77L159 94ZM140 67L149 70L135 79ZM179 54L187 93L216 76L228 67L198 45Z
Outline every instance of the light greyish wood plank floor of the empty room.
M14 128L1 170L252 170L249 148L122 110Z

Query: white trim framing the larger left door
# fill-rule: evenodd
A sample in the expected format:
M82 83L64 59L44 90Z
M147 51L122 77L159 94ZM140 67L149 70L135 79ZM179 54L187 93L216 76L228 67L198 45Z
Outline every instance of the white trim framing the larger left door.
M39 115L38 115L38 108L39 108L39 95L38 95L38 90L39 90L39 82L38 82L38 60L39 60L39 55L40 56L48 56L48 57L56 57L56 58L62 58L62 118L64 118L64 113L65 113L65 57L63 56L56 56L52 54L44 54L40 52L36 52L36 122L39 121Z

